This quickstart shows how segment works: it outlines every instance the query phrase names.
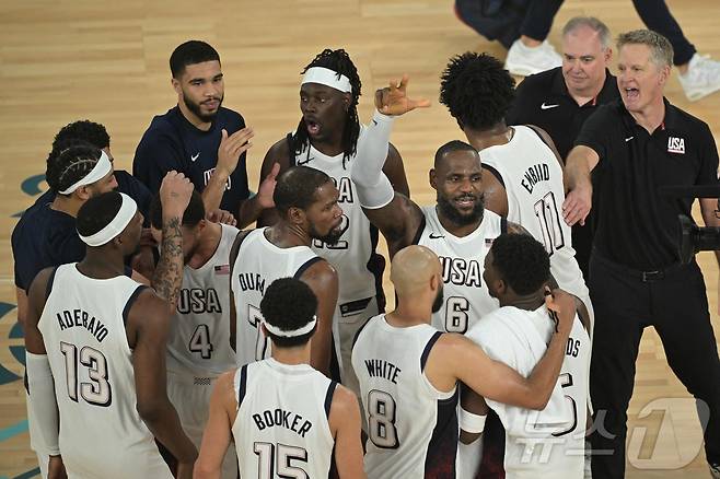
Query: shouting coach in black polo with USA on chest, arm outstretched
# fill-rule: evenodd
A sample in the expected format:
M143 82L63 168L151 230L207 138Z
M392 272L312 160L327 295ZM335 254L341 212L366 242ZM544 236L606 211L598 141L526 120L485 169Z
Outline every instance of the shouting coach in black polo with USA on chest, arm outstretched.
M566 166L568 224L584 221L593 197L590 172L597 175L588 284L595 309L593 477L624 476L626 411L646 326L654 326L673 372L709 407L705 451L720 474L720 360L702 274L695 261L680 265L677 253L677 215L689 215L693 200L660 192L670 185L717 185L718 151L705 122L663 97L673 59L666 38L647 30L626 33L618 54L622 101L585 121ZM700 200L707 225L720 225L716 205Z

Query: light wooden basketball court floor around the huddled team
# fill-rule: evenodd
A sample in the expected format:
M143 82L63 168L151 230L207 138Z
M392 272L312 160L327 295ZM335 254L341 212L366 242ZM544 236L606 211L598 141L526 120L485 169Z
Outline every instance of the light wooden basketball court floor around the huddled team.
M479 0L478 0L479 1ZM720 58L715 0L670 0L697 49ZM436 149L461 131L437 102L448 58L465 50L504 58L453 14L452 0L0 1L0 478L34 477L22 381L22 339L15 326L10 233L16 213L34 201L57 130L73 120L104 124L116 167L130 170L135 147L153 115L175 104L167 58L179 43L205 39L222 58L225 102L256 131L248 154L252 186L270 144L299 119L299 72L325 47L347 49L363 82L362 119L374 89L404 72L414 96L430 109L397 121L397 145L421 205L433 200L427 180ZM629 0L568 0L549 39L574 15L604 20L614 35L641 27ZM676 73L669 98L707 121L720 138L720 94L689 104ZM718 268L699 255L713 325ZM390 285L387 284L390 289ZM388 295L392 297L392 294ZM678 318L682 320L682 318ZM629 478L709 477L695 404L670 371L662 346L647 330L629 410Z

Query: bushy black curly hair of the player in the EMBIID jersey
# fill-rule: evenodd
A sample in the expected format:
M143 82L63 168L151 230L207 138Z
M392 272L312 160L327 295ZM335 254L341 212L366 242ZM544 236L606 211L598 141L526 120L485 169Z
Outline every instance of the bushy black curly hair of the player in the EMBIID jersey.
M451 58L440 80L440 103L461 128L492 128L504 119L515 97L515 81L500 60L487 54L467 51Z

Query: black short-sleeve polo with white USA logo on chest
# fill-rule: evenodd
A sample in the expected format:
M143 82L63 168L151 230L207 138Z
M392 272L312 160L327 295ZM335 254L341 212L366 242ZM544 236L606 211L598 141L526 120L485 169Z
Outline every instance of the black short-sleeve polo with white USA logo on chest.
M693 199L669 198L661 189L718 184L708 126L665 100L664 121L649 133L616 101L585 121L576 144L600 156L593 172L597 252L643 271L677 262L677 215L690 215Z

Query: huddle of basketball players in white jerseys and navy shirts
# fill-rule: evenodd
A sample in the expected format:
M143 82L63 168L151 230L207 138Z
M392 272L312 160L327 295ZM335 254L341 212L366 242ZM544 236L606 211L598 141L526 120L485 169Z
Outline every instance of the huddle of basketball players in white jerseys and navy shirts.
M363 125L348 54L318 54L251 196L254 132L221 106L218 52L187 42L170 63L178 105L132 175L104 127L68 125L13 232L44 477L590 477L595 313L571 231L588 211L566 200L567 152L507 125L499 60L441 74L466 141L434 153L428 206L390 143L429 106L407 77Z

